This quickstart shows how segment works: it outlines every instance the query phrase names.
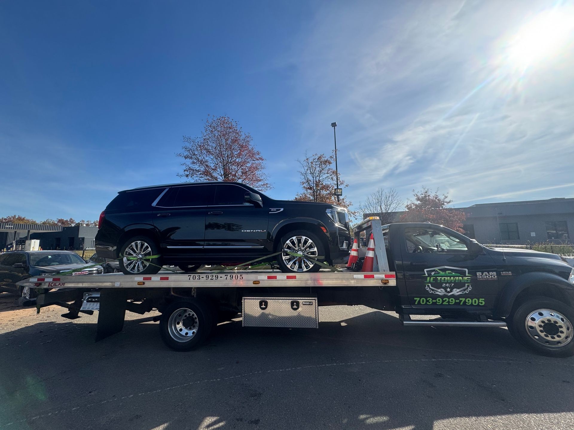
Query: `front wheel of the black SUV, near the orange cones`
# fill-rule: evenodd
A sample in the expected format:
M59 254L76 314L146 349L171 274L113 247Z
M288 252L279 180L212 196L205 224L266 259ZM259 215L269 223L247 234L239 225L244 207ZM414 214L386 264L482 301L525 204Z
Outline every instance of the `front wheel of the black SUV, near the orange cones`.
M309 257L316 259L317 256L325 258L325 246L319 237L308 230L292 230L281 236L277 244L277 252L281 249L289 249L293 252L308 252ZM286 273L314 273L319 272L321 266L312 263L305 258L297 258L287 253L277 256L277 264L282 272Z

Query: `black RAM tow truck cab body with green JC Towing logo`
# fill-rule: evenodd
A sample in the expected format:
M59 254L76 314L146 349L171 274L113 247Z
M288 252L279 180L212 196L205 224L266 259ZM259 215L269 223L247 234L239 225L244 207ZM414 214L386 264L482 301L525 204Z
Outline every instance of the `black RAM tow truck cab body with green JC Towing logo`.
M558 255L488 248L427 222L382 230L399 314L506 318L528 296L574 302L573 269Z

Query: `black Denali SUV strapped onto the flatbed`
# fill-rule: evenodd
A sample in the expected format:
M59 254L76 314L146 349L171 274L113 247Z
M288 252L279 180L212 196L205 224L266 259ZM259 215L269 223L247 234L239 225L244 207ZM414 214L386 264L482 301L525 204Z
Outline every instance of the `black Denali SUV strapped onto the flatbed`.
M119 267L126 275L154 274L163 264L191 272L201 264L238 264L280 251L336 264L348 256L351 237L344 208L273 200L238 182L120 191L100 215L98 228L98 256L123 256ZM126 258L130 256L140 258ZM320 269L287 252L262 261L273 260L284 272Z

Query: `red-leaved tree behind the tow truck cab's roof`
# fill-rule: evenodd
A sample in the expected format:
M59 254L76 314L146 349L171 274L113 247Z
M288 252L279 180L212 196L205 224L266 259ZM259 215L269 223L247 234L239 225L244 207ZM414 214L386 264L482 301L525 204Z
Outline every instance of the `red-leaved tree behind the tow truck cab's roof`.
M431 192L427 187L420 191L413 190L414 200L409 200L405 205L406 212L401 215L403 222L432 222L464 233L463 221L466 214L460 209L449 208L452 203L447 196L439 196L439 190Z

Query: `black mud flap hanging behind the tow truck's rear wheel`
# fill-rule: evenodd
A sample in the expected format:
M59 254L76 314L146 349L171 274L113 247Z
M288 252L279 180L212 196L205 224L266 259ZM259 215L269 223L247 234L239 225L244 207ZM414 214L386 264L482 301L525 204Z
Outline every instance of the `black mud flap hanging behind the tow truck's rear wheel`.
M122 331L126 303L127 291L123 288L102 288L96 342Z

